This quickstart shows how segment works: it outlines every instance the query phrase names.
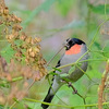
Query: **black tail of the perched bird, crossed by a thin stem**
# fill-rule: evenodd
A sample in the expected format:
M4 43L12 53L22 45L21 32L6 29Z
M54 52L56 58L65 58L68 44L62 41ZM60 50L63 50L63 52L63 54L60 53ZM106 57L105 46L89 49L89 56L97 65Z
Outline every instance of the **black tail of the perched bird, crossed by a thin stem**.
M50 94L50 90L51 90L51 87L49 88L48 94L44 99L45 102L51 102L51 100L52 100L52 98L55 96L55 95ZM43 109L47 109L49 107L49 105L41 104L41 107L43 107Z

